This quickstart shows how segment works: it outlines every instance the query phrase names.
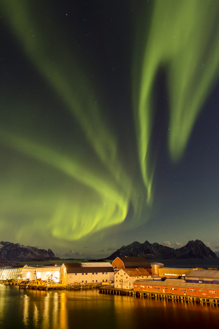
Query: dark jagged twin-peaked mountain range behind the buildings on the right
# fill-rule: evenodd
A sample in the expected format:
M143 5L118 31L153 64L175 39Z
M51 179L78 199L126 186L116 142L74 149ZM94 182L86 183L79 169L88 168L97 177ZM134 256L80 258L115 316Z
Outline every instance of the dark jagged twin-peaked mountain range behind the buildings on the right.
M145 241L144 243L140 243L135 241L121 247L105 259L115 259L120 256L143 256L147 259L217 258L217 255L201 240L188 241L184 247L179 249L173 249L157 242L149 243Z

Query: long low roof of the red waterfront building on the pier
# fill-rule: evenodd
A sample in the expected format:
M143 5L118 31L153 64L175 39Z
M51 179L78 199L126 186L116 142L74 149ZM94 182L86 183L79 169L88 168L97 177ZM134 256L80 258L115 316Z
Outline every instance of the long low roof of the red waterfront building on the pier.
M151 280L136 280L133 284L145 284L145 285L155 285L155 286L175 286L184 288L208 288L208 289L219 289L219 285L205 284L205 283L190 283L185 282L185 280L179 279L166 279L165 281L151 281Z

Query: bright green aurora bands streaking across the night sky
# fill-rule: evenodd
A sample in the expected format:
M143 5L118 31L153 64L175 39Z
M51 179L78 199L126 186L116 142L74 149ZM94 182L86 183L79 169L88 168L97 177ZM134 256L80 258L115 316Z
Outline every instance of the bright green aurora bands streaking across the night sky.
M146 22L143 33L142 26L141 32L137 29L132 78L138 159L129 163L119 150L118 134L106 114L109 109L98 101L99 87L89 77L88 64L67 43L55 17L41 17L40 8L34 12L27 0L2 1L1 9L14 42L68 110L66 116L78 133L74 138L73 131L66 149L59 146L58 133L48 138L49 132L43 132L41 126L39 136L33 128L31 117L37 112L33 108L25 114L31 129L22 128L23 118L19 123L11 119L7 126L2 124L1 142L3 153L10 154L10 173L5 171L1 183L1 230L4 232L8 220L17 218L15 240L28 235L31 239L30 232L37 232L44 238L73 241L118 227L130 208L129 229L147 221L156 193L156 154L151 152L154 82L164 68L167 147L172 161L179 162L218 76L217 1L153 1L150 23ZM139 17L135 16L136 22ZM22 111L19 104L16 111ZM19 160L14 160L16 154ZM133 162L137 165L130 168ZM20 172L18 163L22 163ZM46 177L45 184L39 177Z

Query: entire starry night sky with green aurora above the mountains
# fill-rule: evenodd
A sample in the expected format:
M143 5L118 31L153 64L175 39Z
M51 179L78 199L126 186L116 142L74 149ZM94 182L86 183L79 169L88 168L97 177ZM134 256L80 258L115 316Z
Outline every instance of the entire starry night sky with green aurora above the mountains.
M0 9L0 240L219 250L219 1Z

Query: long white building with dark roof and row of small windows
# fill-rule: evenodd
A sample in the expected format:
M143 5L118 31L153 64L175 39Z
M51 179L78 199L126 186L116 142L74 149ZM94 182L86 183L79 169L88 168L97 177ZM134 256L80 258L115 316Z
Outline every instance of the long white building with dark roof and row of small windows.
M98 284L114 282L114 269L110 263L63 263L60 268L60 283Z

